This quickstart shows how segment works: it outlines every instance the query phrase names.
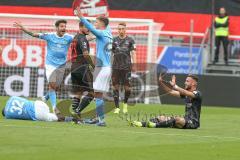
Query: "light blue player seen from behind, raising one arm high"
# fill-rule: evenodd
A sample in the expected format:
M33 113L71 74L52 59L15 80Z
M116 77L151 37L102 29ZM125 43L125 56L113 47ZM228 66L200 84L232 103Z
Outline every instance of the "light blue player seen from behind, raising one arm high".
M96 111L98 116L98 126L105 126L104 121L104 100L103 93L109 91L111 79L111 51L112 33L108 26L107 17L99 16L96 18L95 27L85 19L78 7L76 15L81 22L96 36L96 62L93 73L93 89L95 92Z

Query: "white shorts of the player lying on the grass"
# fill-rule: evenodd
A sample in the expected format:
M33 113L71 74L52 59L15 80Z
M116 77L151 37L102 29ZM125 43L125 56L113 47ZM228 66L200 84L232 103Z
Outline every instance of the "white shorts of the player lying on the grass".
M50 113L49 107L43 101L35 101L35 117L38 121L57 121L58 118L55 114Z

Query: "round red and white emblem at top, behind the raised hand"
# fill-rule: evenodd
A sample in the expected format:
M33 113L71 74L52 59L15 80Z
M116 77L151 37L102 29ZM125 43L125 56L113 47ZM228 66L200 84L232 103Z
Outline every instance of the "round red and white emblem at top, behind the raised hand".
M106 16L108 14L107 0L75 0L72 7L74 10L80 7L84 16Z

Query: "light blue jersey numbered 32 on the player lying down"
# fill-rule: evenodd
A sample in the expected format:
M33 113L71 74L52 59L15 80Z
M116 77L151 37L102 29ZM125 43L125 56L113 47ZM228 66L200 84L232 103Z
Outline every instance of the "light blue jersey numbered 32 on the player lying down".
M34 102L21 97L11 97L7 101L4 113L7 119L37 120Z

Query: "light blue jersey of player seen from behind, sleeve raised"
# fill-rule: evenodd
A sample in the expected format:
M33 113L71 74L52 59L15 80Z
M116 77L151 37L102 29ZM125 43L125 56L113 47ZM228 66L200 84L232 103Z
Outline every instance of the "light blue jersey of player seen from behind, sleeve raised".
M81 22L96 36L96 66L105 67L111 66L111 46L112 46L112 33L108 26L105 30L96 29L85 18L81 18Z

